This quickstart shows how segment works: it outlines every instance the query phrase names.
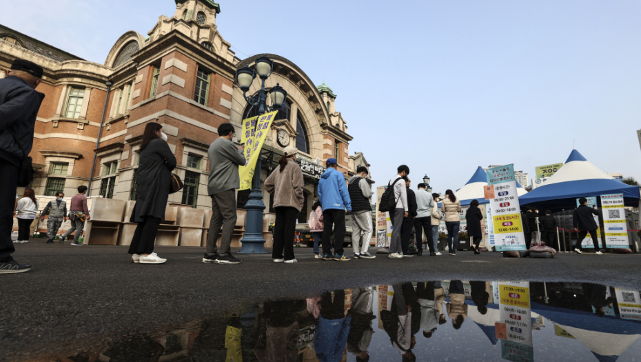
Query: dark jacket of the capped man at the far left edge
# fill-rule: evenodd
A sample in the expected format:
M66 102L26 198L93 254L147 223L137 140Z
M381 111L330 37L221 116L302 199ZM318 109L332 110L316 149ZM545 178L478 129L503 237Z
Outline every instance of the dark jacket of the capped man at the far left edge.
M14 132L27 154L31 152L36 116L44 97L20 77L0 79L0 158L17 167L24 158L8 130Z

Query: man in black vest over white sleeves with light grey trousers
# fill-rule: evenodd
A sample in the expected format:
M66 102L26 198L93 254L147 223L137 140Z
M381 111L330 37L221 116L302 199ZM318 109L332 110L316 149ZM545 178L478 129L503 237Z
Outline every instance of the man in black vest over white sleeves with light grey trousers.
M354 259L374 259L374 255L367 252L369 241L372 240L372 187L367 183L367 168L358 166L356 174L347 180L349 199L352 200L352 249ZM363 237L363 246L360 237Z

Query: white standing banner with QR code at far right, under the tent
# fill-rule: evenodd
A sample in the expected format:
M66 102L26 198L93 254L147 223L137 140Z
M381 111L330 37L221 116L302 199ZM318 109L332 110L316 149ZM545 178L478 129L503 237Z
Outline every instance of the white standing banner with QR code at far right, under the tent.
M601 195L603 228L607 248L629 248L628 228L625 223L623 194Z

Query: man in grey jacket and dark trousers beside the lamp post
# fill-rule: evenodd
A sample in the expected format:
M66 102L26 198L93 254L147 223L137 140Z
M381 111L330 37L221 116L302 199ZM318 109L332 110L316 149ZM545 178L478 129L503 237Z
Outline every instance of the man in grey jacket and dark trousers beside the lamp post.
M218 137L210 145L207 156L210 159L210 176L207 179L207 193L212 197L212 220L207 234L207 252L203 263L238 264L241 261L232 255L232 234L236 225L236 189L241 188L238 166L245 165L245 145L234 145L234 126L223 123L218 127ZM221 248L216 242L221 234ZM220 251L220 253L218 253Z

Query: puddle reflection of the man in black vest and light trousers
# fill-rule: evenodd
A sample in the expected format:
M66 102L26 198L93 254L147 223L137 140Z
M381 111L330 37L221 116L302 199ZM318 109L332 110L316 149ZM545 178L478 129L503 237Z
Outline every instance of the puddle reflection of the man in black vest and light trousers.
M372 342L372 321L376 319L372 306L374 304L374 287L352 290L352 308L347 313L352 316L349 334L347 335L347 352L356 356L356 362L369 361L369 343Z

